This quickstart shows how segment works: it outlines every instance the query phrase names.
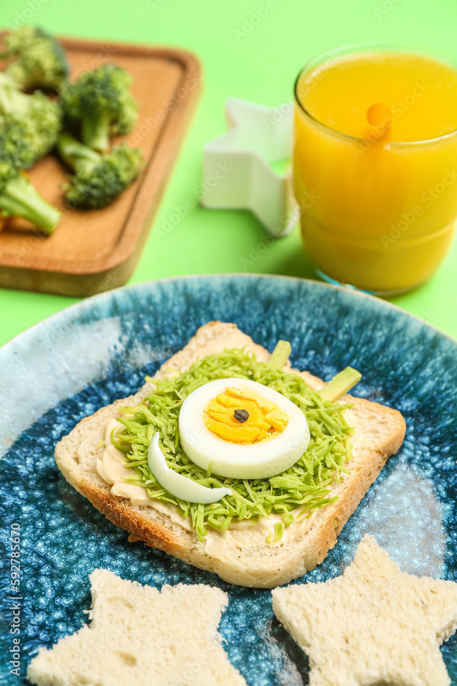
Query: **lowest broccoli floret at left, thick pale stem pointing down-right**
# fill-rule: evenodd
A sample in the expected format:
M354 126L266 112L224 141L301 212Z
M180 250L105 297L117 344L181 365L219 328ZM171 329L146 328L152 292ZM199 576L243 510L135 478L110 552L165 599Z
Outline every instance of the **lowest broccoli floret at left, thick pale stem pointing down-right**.
M22 217L48 235L58 225L60 212L43 200L21 171L27 141L9 137L8 128L0 132L0 214Z

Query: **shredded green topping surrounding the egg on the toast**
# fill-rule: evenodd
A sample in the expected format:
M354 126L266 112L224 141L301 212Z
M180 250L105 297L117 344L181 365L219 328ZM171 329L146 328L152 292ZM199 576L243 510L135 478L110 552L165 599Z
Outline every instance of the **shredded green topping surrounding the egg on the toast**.
M304 455L281 474L249 480L217 477L194 464L182 450L178 431L182 403L203 383L230 377L263 383L304 412L310 427L310 443ZM203 357L178 377L147 377L147 381L153 383L152 392L136 407L122 408L127 413L119 417L124 428L113 432L112 440L126 454L126 466L134 471L128 482L146 488L151 498L175 505L182 517L190 515L200 541L208 527L225 531L231 521L252 519L254 523L269 514L282 514L287 526L294 521L291 510L301 507L299 517L307 517L316 508L337 499L328 497L329 486L341 480L341 473L349 473L345 465L351 459L349 434L353 429L347 425L343 412L351 405L324 401L301 377L258 362L254 355L236 348ZM233 495L202 505L184 502L164 490L147 464L147 449L156 431L160 432L160 448L171 469L203 486L232 488ZM276 540L282 536L284 525L281 532L278 527Z

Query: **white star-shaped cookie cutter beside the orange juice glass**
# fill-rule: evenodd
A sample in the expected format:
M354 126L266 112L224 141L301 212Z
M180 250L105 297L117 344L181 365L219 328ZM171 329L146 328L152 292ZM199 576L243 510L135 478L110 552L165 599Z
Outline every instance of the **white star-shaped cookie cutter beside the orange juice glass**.
M287 164L293 104L266 107L231 97L225 101L225 114L229 130L203 147L201 204L248 209L271 234L290 233L299 219ZM287 168L275 170L278 163Z

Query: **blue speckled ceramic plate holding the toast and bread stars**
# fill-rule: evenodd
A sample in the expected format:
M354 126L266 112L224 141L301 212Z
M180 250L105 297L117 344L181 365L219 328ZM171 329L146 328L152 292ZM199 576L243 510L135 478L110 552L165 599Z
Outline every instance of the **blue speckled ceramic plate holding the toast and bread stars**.
M143 283L84 300L0 350L1 642L12 646L10 525L21 533L21 674L39 646L77 630L95 567L160 587L205 583L230 595L221 622L228 657L250 686L308 683L304 654L273 618L269 591L232 587L127 543L55 466L55 443L99 407L137 390L201 324L236 322L272 351L291 341L294 366L330 379L362 372L355 394L401 410L406 440L307 580L343 571L363 534L413 573L457 580L457 346L396 307L357 292L280 276L196 276ZM296 583L301 583L298 580ZM443 647L457 685L457 641ZM3 661L1 684L21 684Z

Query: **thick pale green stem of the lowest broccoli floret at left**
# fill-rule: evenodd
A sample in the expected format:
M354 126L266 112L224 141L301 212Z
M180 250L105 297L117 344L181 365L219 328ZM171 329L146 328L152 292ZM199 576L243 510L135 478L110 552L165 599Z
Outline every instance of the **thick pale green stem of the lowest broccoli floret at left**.
M60 220L60 212L40 196L26 176L11 178L0 191L3 215L21 217L51 235Z

